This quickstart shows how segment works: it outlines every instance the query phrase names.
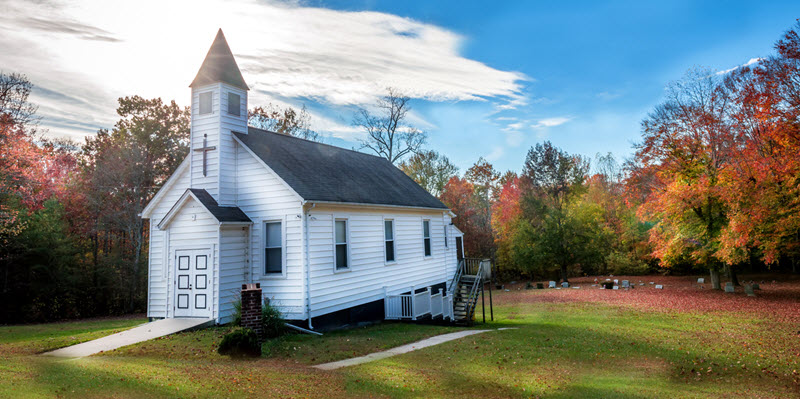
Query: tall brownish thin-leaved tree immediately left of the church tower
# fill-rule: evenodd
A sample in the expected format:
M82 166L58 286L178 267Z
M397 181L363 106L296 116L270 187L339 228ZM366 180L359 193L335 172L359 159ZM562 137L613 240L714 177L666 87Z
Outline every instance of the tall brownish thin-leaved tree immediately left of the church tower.
M186 157L190 114L174 101L139 96L120 98L117 113L113 130L86 140L82 162L95 221L95 269L104 262L122 266L126 310L133 311L143 298L146 277L147 234L139 214Z

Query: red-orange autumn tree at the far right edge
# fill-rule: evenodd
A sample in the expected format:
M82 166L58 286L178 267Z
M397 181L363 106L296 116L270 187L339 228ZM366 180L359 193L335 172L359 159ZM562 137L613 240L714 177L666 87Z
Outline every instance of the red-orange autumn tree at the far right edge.
M725 81L734 98L736 156L724 170L729 223L720 257L759 257L767 265L800 257L800 23L775 45L777 54L739 68Z

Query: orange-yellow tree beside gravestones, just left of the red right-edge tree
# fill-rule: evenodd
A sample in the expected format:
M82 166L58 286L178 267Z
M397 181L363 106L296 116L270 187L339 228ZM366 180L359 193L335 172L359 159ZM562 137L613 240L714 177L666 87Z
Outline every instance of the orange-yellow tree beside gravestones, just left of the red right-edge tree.
M665 101L642 122L635 155L636 171L654 177L640 214L656 223L650 230L655 256L667 267L686 259L707 267L717 289L722 265L736 282L717 254L728 218L720 176L733 149L729 111L719 75L690 71L669 85Z

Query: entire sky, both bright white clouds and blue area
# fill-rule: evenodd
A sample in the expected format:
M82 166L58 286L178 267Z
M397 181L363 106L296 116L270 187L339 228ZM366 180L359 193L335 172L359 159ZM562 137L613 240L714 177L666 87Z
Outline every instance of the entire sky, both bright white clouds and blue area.
M669 81L768 56L800 18L797 1L494 3L9 0L0 69L37 84L51 135L80 140L113 125L119 96L186 104L222 27L251 105L306 105L326 141L353 147L353 112L391 85L462 171L480 156L519 170L543 140L629 156Z

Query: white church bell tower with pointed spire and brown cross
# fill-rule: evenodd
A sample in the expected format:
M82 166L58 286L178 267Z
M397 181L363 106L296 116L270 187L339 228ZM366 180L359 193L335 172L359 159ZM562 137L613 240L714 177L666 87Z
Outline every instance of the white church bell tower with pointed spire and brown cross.
M192 88L191 187L208 191L223 206L236 205L236 143L247 134L249 88L222 29L211 44Z

